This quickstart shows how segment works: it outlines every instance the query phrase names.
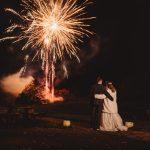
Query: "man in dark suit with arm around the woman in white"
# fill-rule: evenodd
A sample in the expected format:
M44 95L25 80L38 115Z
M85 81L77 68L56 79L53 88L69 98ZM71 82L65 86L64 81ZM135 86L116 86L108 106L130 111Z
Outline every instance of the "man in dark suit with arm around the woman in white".
M92 87L91 90L91 106L92 106L92 116L91 116L91 128L94 130L99 130L100 117L103 109L104 99L96 99L95 94L105 94L110 100L113 101L112 96L107 92L105 86L102 85L103 80L100 76L97 78L97 84Z

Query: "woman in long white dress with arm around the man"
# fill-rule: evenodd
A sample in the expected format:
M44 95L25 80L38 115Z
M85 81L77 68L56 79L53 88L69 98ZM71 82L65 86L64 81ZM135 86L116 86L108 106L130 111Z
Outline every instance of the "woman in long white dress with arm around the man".
M113 97L110 101L104 94L95 94L95 98L104 99L103 110L101 113L100 130L102 131L127 131L128 128L123 125L123 121L118 114L117 92L111 82L106 84L106 89Z

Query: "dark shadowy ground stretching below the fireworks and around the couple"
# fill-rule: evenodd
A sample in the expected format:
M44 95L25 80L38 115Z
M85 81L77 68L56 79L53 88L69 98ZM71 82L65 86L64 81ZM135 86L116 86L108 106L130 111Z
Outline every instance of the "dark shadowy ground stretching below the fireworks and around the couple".
M149 150L150 121L135 119L127 132L94 131L83 102L33 106L37 115L0 128L0 150ZM63 120L71 127L63 127Z

